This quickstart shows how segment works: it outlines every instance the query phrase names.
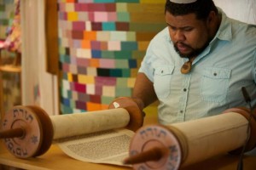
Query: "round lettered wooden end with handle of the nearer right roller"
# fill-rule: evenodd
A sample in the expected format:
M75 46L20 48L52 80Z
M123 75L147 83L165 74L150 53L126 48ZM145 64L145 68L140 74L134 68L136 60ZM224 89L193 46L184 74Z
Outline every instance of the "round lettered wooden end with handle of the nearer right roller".
M130 157L125 164L134 169L177 169L183 159L182 146L176 134L160 126L140 128L131 140Z

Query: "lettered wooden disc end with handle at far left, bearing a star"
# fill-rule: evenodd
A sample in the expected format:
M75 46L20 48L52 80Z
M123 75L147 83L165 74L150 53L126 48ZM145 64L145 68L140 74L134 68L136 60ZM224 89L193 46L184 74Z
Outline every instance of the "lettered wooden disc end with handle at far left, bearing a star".
M49 149L53 127L49 116L42 109L36 106L15 106L3 117L0 138L14 156L39 156Z

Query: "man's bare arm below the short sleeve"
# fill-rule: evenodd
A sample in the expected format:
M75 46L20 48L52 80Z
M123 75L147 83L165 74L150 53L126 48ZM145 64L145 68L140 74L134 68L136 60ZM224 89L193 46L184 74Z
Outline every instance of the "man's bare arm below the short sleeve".
M154 85L144 73L139 72L133 88L132 98L143 109L157 100Z

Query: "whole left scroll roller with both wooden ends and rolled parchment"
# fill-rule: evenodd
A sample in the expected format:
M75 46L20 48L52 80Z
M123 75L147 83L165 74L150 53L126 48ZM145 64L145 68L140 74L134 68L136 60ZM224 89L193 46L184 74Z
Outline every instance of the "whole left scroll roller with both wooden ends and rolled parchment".
M59 116L37 106L15 106L3 117L0 139L11 154L27 158L43 155L55 139L119 127L136 131L142 125L142 111L130 98L115 99L106 111Z

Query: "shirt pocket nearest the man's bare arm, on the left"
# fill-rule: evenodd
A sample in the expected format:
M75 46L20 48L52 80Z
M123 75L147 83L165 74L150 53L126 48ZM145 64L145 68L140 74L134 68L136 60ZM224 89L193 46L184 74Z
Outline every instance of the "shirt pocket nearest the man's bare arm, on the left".
M165 99L170 94L173 70L174 65L163 65L154 70L154 91L159 99Z

